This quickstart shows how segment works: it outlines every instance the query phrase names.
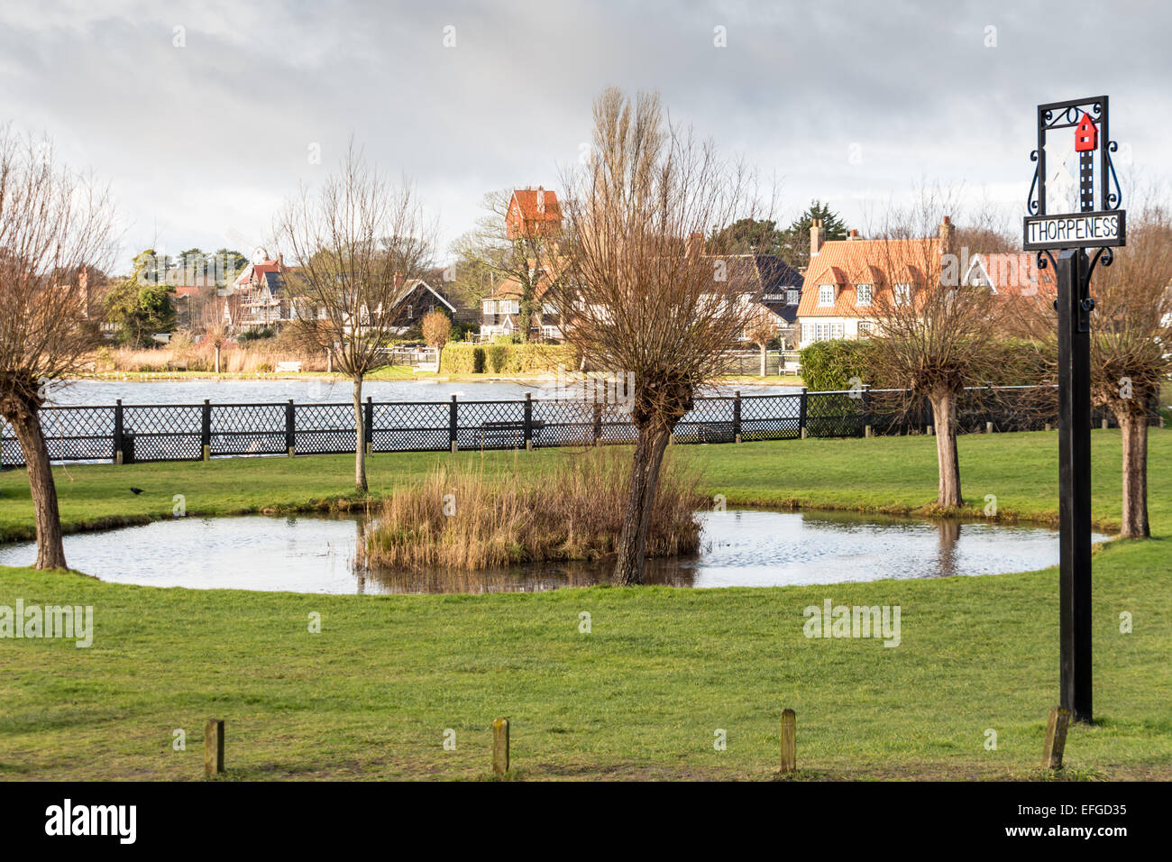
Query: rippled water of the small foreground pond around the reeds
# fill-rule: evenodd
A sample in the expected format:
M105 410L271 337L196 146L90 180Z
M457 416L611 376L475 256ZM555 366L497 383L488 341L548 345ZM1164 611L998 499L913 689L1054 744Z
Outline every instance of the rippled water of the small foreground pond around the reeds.
M863 517L839 513L700 513L694 557L650 561L647 581L675 586L833 584L995 575L1056 565L1058 535L1036 527ZM481 572L367 569L362 517L176 518L66 536L75 569L103 581L293 592L498 592L606 583L611 564ZM1104 536L1096 535L1095 541ZM29 565L32 544L0 545L0 565Z

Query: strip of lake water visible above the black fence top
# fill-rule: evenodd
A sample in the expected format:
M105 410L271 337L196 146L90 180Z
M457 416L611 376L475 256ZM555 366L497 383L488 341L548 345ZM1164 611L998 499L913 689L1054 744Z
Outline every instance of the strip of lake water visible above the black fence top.
M745 395L777 395L800 392L800 387L776 385L721 386L709 394L731 395L740 388ZM259 403L287 401L349 402L353 386L348 380L315 378L311 380L159 380L130 382L122 380L74 380L49 387L49 406L113 405L122 399L127 405ZM362 396L375 401L448 401L452 395L462 401L496 401L533 398L580 398L558 389L554 380L513 382L442 382L437 380L372 380L362 386Z

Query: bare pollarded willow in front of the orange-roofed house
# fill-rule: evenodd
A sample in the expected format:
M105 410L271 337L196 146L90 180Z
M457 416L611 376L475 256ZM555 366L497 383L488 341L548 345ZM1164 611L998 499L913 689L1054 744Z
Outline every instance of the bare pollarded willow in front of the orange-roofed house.
M936 505L942 509L965 504L956 448L956 408L965 388L1018 376L1007 367L1014 354L1003 345L1022 299L1015 285L996 292L967 279L967 256L956 246L952 218L943 215L952 204L924 192L912 206L891 211L883 236L859 244L874 251L851 274L856 285L866 283L872 291L873 378L905 389L905 408L920 399L932 406Z

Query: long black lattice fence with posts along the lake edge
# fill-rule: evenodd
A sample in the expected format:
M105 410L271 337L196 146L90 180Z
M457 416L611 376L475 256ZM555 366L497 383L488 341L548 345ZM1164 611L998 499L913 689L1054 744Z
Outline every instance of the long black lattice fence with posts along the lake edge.
M962 433L1041 430L1054 425L1054 387L980 387L958 405ZM992 395L996 395L992 398ZM1153 403L1153 423L1159 413ZM370 452L443 452L552 446L599 446L635 439L624 402L530 399L513 401L375 402L362 405ZM1096 427L1113 425L1096 410ZM729 443L798 437L859 437L926 433L927 403L898 391L796 392L697 398L675 428L677 443ZM354 452L353 403L123 405L47 407L41 427L57 462L199 461L259 455ZM0 467L23 455L0 421Z

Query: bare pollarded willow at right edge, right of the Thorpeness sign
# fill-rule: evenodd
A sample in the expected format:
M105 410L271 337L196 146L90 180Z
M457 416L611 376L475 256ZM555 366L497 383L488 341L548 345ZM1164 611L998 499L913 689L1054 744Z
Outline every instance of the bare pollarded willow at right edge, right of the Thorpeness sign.
M1172 374L1172 217L1149 206L1091 283L1091 399L1123 433L1120 535L1146 538L1147 422Z

